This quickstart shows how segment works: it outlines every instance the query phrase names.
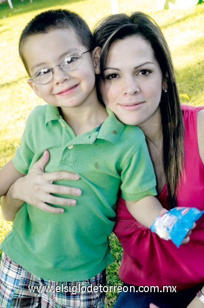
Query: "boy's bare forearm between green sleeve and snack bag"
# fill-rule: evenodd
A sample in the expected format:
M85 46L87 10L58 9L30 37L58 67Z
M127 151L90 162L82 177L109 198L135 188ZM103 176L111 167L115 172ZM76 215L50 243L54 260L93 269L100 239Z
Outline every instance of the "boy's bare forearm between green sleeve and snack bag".
M145 196L138 201L125 201L125 204L131 215L147 228L150 228L155 218L164 209L154 196Z

